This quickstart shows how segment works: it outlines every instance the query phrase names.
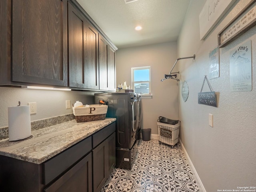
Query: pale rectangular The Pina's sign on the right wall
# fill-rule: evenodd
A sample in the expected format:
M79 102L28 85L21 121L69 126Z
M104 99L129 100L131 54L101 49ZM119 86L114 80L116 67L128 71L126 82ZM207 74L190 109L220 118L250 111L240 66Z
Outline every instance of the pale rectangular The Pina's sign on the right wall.
M252 42L249 40L230 52L230 91L252 90Z

